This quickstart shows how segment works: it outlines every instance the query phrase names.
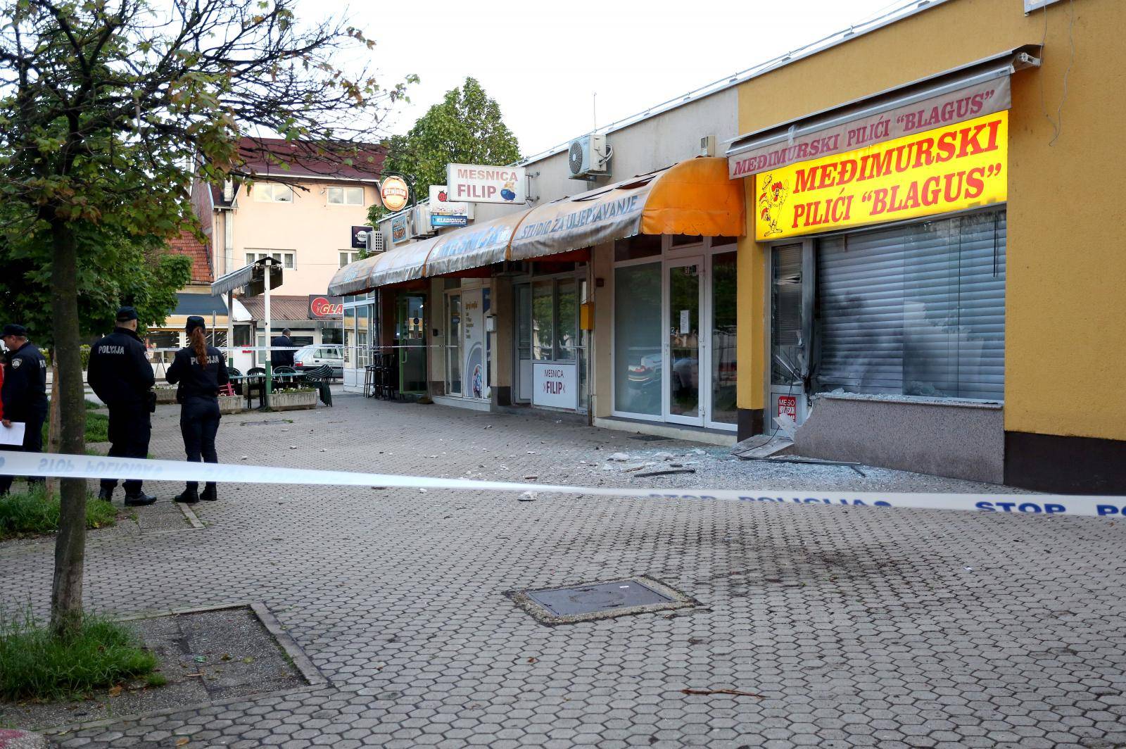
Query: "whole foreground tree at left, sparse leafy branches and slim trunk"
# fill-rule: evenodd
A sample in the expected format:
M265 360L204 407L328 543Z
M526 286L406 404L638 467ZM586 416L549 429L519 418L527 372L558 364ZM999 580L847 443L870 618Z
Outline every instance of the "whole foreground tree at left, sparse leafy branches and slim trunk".
M374 43L337 19L302 23L296 7L0 0L0 220L8 240L0 268L8 275L9 262L23 264L18 277L48 289L61 452L84 452L80 342L95 313L83 314L83 305L131 293L142 305L169 301L141 270L168 268L129 253L140 247L144 256L149 242L190 223L194 179L252 180L248 164L262 159L284 168L261 149L248 153L243 137L258 133L282 134L305 164L367 162L374 171L356 128L378 122L409 81L385 89L364 70L346 74L332 60ZM137 276L113 288L133 269ZM72 636L82 621L86 480L63 479L61 501L51 623L56 635Z

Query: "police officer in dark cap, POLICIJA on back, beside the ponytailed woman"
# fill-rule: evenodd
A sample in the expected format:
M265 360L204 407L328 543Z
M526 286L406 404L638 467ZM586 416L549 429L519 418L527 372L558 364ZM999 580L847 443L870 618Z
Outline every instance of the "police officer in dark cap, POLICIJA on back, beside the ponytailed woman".
M90 347L87 382L95 394L109 407L109 455L111 457L146 457L157 399L152 386L157 378L145 355L144 342L137 336L137 312L131 306L117 311L117 327ZM102 479L98 499L114 498L117 479ZM131 507L157 501L141 491L141 481L125 482L125 503Z

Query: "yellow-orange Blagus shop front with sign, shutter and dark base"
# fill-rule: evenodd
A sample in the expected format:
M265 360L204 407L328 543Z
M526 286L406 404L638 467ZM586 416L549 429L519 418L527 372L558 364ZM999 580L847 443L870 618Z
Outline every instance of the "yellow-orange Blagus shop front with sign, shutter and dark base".
M946 0L740 84L747 135L729 161L732 176L745 180L748 222L739 244L741 438L775 430L780 413L801 423L803 454L1036 489L1126 492L1124 28L1119 0L1061 0L1028 14L1018 0ZM896 101L933 93L929 106L962 84L959 75L998 64L1012 65L999 112L975 118L967 109L905 141L890 132L879 144L844 149L863 132L850 123L870 126L864 117L883 108L901 113L891 119L903 125L910 107L895 109ZM918 109L924 118L927 106ZM851 134L828 159L816 149L781 164L744 158L757 136L770 142L788 128L785 146L803 127L832 122ZM965 131L976 124L981 139L967 144ZM942 140L941 127L954 134ZM990 136L1000 141L986 152ZM893 154L906 164L902 180L887 178L895 193L879 193L879 180L859 184L866 154L886 159L906 141L915 150ZM944 144L951 159L966 159L964 167L950 162L947 173L960 175L954 185L926 172ZM787 179L763 185L771 171ZM942 203L944 187L958 199ZM777 194L766 195L771 188ZM819 199L803 203L803 191ZM775 214L772 199L784 206ZM940 269L946 280L933 282L922 266L904 269L932 240L953 258ZM876 264L892 257L881 242L899 252L884 273L901 278L900 318L894 336L865 348L850 344L848 331L887 323L877 314L883 302L874 302L883 287L856 280L875 273L864 252ZM974 260L980 278L967 270L969 247L984 248ZM935 283L947 305L937 321L933 293L915 293ZM977 289L993 301L975 302ZM786 304L797 316L787 316ZM888 366L900 367L899 384L881 378L884 364L872 356L892 338Z

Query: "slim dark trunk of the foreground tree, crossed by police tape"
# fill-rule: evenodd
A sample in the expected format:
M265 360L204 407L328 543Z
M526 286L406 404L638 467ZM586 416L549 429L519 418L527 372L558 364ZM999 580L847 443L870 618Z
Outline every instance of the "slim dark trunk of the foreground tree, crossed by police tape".
M78 240L64 221L51 225L51 312L57 372L59 449L86 453L86 403L79 354ZM55 576L51 587L51 630L56 636L78 631L82 622L82 568L86 561L86 479L63 479L55 538Z

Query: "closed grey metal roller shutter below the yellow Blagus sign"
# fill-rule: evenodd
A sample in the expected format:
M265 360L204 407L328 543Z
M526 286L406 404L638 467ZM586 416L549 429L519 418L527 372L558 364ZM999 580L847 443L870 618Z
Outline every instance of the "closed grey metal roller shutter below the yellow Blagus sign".
M819 390L1001 400L1006 213L817 241Z

